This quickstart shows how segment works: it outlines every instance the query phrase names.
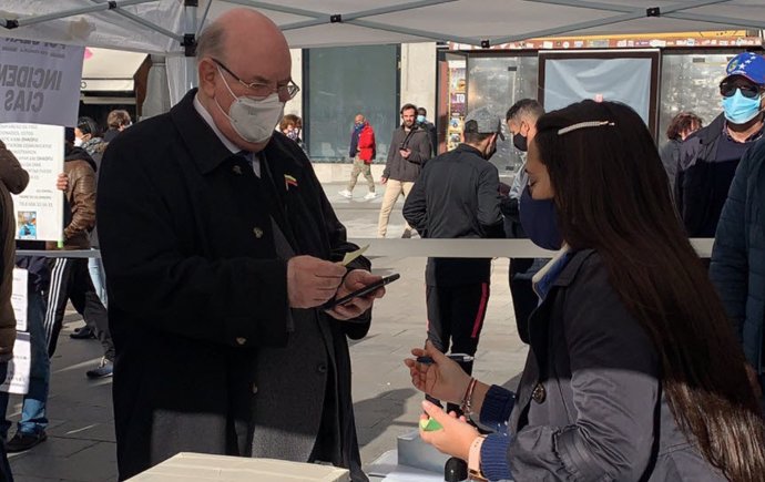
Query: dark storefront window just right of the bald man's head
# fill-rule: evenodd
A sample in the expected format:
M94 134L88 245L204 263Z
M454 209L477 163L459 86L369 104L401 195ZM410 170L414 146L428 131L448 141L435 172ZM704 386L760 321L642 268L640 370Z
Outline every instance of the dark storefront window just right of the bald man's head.
M312 161L343 162L356 114L377 140L376 163L385 163L398 115L398 45L310 49L307 62L305 137Z

